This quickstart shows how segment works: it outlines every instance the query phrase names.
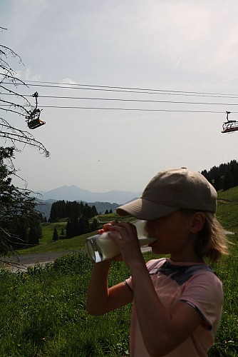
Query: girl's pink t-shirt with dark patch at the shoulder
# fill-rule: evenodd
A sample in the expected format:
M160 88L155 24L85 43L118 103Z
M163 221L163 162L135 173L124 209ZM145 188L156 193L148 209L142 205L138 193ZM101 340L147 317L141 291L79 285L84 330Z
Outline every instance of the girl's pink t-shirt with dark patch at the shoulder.
M170 308L177 301L184 301L202 317L200 326L166 357L207 356L207 351L214 344L222 314L222 282L205 263L175 263L169 258L161 258L149 261L147 267L157 296L165 307ZM131 277L125 283L133 289ZM133 304L130 357L147 356L150 355L145 348Z

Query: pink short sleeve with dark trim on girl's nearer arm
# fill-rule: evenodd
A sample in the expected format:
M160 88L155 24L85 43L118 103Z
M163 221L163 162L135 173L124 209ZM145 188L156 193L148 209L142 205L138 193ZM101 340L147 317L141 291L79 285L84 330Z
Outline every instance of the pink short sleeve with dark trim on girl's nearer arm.
M197 273L187 282L179 301L194 307L203 326L210 329L222 313L222 282L210 271Z

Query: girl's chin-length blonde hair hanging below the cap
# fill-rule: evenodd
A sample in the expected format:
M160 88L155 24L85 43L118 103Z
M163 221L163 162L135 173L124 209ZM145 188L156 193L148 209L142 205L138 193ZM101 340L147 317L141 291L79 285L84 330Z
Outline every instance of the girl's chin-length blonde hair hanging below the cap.
M185 214L195 213L193 210L182 209L182 211ZM204 213L206 220L195 243L195 253L201 258L207 257L210 261L217 261L222 255L229 253L227 236L214 213L206 211L202 211L202 213Z

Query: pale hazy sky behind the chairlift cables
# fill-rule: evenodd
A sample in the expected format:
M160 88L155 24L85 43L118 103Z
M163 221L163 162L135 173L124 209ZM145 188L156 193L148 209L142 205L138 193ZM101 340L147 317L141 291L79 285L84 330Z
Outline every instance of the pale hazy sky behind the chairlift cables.
M138 192L158 171L209 170L237 159L238 132L221 133L226 111L238 121L236 0L0 0L0 6L7 29L0 43L21 56L24 65L11 59L11 66L29 84L17 89L38 91L46 121L31 134L50 158L28 147L15 154L29 189ZM27 130L21 116L8 115Z

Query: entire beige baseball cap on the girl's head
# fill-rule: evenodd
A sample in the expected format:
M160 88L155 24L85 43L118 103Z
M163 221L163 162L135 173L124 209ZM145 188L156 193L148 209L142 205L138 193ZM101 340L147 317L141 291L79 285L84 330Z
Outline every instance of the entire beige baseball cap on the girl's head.
M217 191L199 172L186 168L160 171L140 198L117 208L120 216L151 219L167 216L180 208L217 211Z

